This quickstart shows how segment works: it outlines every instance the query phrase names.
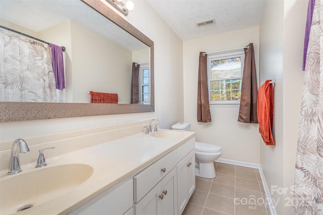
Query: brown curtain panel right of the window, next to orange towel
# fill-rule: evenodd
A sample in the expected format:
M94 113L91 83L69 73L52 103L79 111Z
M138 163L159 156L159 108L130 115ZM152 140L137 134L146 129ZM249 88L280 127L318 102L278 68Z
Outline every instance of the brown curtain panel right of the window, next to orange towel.
M238 121L244 123L258 123L256 63L254 61L253 44L250 43L248 46L248 49L244 49L245 58Z

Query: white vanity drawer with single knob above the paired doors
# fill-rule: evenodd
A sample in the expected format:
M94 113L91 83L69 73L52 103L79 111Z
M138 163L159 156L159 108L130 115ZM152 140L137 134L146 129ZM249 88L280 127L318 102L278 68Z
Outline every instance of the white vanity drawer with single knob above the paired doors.
M134 201L138 202L177 164L176 150L170 152L134 177ZM162 169L165 168L165 172Z

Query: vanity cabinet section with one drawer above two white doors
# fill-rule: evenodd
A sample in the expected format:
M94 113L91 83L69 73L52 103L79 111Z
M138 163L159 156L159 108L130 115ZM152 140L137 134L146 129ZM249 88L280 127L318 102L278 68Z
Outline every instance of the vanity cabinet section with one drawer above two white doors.
M134 214L177 214L177 154L170 152L134 177Z

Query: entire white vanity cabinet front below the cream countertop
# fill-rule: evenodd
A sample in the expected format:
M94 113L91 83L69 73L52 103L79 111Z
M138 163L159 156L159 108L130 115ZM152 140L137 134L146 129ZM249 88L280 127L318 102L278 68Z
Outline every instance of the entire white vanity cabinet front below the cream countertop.
M70 214L181 214L195 189L194 146L193 137Z

